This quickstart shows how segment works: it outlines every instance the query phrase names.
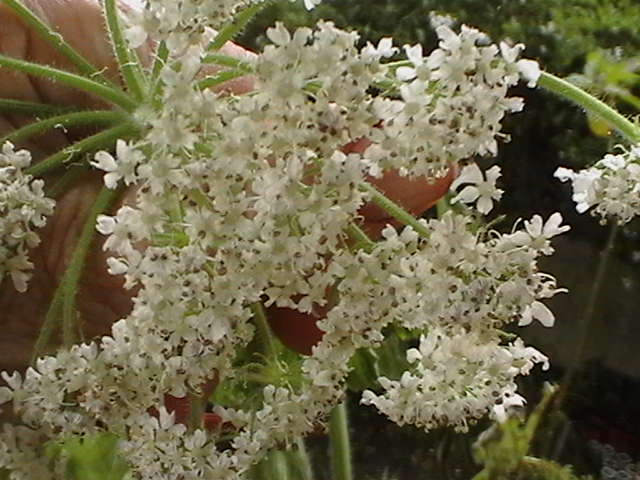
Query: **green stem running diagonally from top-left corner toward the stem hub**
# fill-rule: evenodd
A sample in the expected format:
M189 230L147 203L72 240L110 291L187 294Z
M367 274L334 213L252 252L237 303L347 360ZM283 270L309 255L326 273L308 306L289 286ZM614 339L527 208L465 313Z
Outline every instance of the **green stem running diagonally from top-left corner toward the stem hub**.
M100 82L113 85L101 71L85 59L76 49L69 45L62 35L44 23L37 15L29 10L20 0L2 0L13 12L37 32L47 43L57 49L76 66L78 71L88 77L94 77Z

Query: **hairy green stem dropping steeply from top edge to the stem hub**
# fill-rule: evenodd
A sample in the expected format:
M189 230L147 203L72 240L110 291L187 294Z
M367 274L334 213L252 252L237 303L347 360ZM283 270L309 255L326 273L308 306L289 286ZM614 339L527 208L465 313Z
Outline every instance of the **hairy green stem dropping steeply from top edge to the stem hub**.
M115 0L105 0L104 15L122 77L134 98L140 100L144 98L146 78L140 66L138 54L129 47L122 34Z

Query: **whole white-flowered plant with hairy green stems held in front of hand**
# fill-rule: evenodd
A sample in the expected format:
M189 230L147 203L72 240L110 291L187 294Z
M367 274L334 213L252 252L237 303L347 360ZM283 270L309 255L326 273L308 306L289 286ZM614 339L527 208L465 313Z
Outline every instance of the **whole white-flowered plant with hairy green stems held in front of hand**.
M105 0L119 84L18 0L4 4L76 73L5 55L0 68L108 105L0 104L49 113L0 138L3 285L27 290L28 250L53 214L49 197L78 169L101 171L103 183L32 366L2 373L0 406L20 419L0 433L0 468L11 478L55 478L70 456L43 464L40 448L88 434L119 439L130 478L238 478L270 450L299 445L332 410L332 424L340 423L353 359L397 331L416 340L405 371L380 375L361 397L394 422L464 431L524 403L516 377L548 361L505 327L553 325L544 300L563 289L537 261L569 227L559 213L507 233L480 222L501 197L500 170L482 172L474 158L494 155L506 137L501 121L523 107L509 88L521 78L601 109L595 99L519 59L522 45L493 45L466 26L438 26L439 46L425 55L390 38L360 47L357 33L330 22L293 32L276 24L264 51L237 58L224 48L263 6L250 0L148 0L122 12ZM247 78L255 88L229 87ZM605 114L637 140L634 125ZM106 127L30 166L30 153L14 143L58 124ZM634 152L624 159L636 162ZM79 165L70 167L72 159ZM628 170L631 198L637 172L619 163L604 165ZM61 186L46 194L42 178L50 175ZM574 181L576 195L593 177L559 175ZM391 177L438 194L414 205L385 194ZM597 194L576 198L580 205L611 198L617 180L602 179ZM431 220L412 215L452 181L452 208ZM637 210L626 197L625 208L606 201L605 213L622 219ZM374 206L383 212L378 226L367 223ZM124 279L133 305L109 335L80 342L79 285L98 233L109 273ZM302 315L290 322L313 317L319 333L299 348L309 355L273 337L274 309ZM63 346L48 350L58 328ZM234 384L250 385L250 395L205 412L213 390ZM346 462L336 467L336 478L348 470Z

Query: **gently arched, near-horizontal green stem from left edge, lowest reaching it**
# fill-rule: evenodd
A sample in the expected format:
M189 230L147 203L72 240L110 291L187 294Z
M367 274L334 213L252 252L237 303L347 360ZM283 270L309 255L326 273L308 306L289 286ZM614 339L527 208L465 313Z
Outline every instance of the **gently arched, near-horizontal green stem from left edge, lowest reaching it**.
M121 112L111 110L65 113L62 115L47 117L44 120L40 120L19 128L18 130L14 130L10 134L0 138L0 145L7 141L15 143L19 140L46 132L51 128L65 128L75 125L108 125L116 122L122 122L125 119L126 117Z

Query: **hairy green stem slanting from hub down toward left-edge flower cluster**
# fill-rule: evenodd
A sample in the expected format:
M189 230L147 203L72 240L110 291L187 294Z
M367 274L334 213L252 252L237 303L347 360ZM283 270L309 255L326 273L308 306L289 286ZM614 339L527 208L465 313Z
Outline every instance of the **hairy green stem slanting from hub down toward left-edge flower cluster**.
M84 138L73 145L70 145L57 153L45 158L40 163L36 163L26 170L26 173L33 176L42 176L51 170L58 168L63 163L71 161L77 155L87 153L101 148L109 148L113 146L118 138L126 138L135 132L136 127L130 122L117 127L109 128L102 132L96 133L90 137Z

